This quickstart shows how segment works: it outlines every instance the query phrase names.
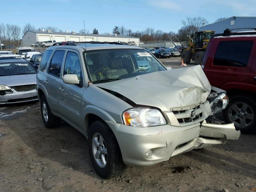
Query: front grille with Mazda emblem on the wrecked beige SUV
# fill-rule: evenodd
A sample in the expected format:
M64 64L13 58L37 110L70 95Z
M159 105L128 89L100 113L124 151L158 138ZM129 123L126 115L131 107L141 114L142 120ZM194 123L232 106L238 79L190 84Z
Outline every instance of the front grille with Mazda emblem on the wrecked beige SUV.
M194 109L196 112L196 115L194 118L190 117L190 112L192 109ZM203 116L203 111L200 108L200 105L194 108L191 108L189 110L178 110L178 111L172 111L172 112L174 113L180 125L186 125L186 123L196 121Z

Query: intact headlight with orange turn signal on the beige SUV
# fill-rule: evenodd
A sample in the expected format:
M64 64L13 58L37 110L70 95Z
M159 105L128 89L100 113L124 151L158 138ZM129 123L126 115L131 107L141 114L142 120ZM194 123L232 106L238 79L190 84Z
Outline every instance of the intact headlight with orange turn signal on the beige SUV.
M128 126L151 127L166 124L164 116L157 109L132 108L125 111L122 117L124 124Z

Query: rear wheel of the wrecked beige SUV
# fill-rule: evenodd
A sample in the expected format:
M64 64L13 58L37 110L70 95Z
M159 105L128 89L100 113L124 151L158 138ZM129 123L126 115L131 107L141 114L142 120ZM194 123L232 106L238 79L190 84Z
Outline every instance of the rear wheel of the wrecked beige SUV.
M41 97L40 108L42 120L47 128L54 128L60 125L60 118L52 114L52 111L50 110L50 107L44 95Z

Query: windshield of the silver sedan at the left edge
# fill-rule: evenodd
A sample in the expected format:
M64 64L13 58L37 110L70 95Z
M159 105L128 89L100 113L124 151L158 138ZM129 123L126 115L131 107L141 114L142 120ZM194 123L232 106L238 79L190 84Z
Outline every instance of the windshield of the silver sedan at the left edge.
M28 62L0 63L0 76L36 74L36 70Z

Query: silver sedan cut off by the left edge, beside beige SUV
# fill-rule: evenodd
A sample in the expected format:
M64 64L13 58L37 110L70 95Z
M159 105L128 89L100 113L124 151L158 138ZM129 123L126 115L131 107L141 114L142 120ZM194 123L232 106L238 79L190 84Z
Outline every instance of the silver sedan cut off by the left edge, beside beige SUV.
M38 100L36 70L23 59L0 60L0 105Z

